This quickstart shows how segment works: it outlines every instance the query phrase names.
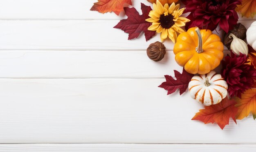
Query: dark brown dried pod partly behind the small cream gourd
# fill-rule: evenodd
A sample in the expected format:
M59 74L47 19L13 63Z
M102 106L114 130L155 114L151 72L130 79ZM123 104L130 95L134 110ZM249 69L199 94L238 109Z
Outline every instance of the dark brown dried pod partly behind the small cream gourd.
M224 34L224 45L227 46L228 49L230 49L230 44L233 40L233 38L229 37L229 34L234 34L237 38L244 40L246 38L246 31L247 29L245 28L245 26L241 23L238 23L234 26L233 30L229 31L229 33L225 33Z

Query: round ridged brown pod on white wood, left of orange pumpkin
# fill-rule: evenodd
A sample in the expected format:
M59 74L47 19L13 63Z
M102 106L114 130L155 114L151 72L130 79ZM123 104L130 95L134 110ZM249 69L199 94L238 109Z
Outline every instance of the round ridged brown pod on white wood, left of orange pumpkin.
M166 51L165 46L161 42L155 42L148 46L147 55L155 62L161 61L164 58Z

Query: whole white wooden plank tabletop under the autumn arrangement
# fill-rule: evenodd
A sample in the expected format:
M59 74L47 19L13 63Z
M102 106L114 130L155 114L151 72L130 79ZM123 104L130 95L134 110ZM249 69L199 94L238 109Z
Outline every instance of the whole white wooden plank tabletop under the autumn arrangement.
M96 1L0 0L0 152L255 152L252 116L191 121L203 106L157 87L182 71L173 43L151 61L159 36L128 41L112 28L124 14L89 11Z

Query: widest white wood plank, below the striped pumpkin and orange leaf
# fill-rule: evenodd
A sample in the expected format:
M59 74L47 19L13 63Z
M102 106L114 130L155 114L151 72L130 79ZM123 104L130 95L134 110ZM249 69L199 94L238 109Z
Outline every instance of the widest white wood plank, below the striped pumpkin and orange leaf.
M0 79L0 143L256 143L250 116L221 130L191 118L164 79Z

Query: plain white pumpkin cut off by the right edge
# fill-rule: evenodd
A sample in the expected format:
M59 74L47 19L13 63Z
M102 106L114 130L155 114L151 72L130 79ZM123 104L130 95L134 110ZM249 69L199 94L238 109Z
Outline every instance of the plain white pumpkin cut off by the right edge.
M247 29L246 40L256 50L256 21L252 22L251 26Z

